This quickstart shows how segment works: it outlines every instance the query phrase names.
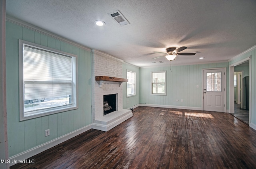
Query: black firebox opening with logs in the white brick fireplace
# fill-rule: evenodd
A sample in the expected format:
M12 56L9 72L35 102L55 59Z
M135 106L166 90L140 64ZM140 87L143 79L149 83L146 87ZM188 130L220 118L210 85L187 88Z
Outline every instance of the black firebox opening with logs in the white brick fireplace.
M103 115L116 111L117 94L103 96Z

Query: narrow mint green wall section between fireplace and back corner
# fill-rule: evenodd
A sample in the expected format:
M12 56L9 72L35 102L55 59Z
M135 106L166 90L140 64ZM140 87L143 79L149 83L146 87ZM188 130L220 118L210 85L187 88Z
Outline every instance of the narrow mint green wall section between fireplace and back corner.
M127 71L136 73L136 96L127 97L127 83L123 83L123 108L128 109L140 103L140 69L136 66L123 63L123 77L127 78Z

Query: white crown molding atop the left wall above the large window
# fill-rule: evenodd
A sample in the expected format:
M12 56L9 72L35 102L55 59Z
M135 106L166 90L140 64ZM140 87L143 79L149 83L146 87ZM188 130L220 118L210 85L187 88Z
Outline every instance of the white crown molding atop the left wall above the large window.
M26 22L24 22L24 21L18 20L18 19L16 19L16 18L12 17L12 16L6 15L6 21L12 22L12 23L17 24L17 25L19 25L19 26L22 26L22 27L24 27L24 28L31 29L31 30L33 30L33 31L37 31L37 32L39 32L39 33L42 33L42 34L47 35L47 36L49 36L49 37L52 37L52 38L54 38L54 39L58 39L58 40L60 40L60 41L66 42L66 43L68 43L68 44L70 44L70 45L76 46L76 47L81 48L81 49L84 49L84 50L86 50L86 51L91 51L91 49L90 49L89 47L86 47L86 46L84 46L84 45L81 45L81 44L79 44L79 43L76 43L76 42L74 42L74 41L71 41L70 39L66 39L65 37L61 37L61 36L59 36L59 35L56 35L55 33L52 33L52 32L50 32L50 31L46 31L46 30L44 30L44 29L42 29L42 28L39 28L39 27L37 27L37 26L34 26L34 25L32 25L32 24L28 24L28 23L26 23Z

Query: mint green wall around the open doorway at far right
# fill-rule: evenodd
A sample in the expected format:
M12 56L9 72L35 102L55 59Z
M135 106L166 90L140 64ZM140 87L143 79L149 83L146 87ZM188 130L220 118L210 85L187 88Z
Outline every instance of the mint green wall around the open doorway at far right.
M256 49L247 52L240 57L229 62L230 65L241 61L247 57L251 57L251 123L256 125ZM250 122L249 122L250 125ZM254 128L255 129L255 128Z

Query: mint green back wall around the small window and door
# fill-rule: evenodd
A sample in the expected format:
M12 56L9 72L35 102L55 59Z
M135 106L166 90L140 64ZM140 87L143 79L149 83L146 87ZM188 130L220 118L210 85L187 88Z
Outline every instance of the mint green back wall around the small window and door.
M140 103L201 108L202 69L217 67L227 68L227 86L229 86L228 63L172 66L172 73L170 72L170 67L140 68ZM167 71L166 96L150 94L152 71ZM196 88L196 85L198 85L199 88ZM228 104L229 90L227 87L226 89ZM183 102L180 102L181 99L183 99ZM176 100L179 101L177 102Z

